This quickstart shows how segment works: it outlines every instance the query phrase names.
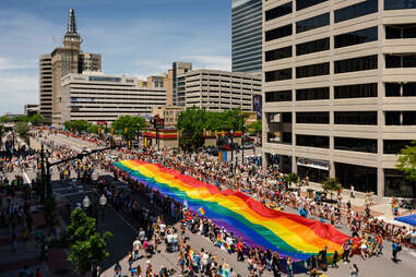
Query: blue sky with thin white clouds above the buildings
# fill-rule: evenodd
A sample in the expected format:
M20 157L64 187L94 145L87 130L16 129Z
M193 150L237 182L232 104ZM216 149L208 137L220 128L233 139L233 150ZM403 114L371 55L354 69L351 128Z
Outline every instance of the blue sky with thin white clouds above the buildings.
M145 77L173 61L230 70L230 0L0 0L0 115L38 103L38 57L61 44L75 10L82 50L103 71Z

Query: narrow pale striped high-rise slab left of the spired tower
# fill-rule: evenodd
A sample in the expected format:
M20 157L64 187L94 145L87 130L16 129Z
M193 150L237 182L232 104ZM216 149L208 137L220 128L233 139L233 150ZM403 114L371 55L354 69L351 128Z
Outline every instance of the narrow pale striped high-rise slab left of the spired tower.
M52 58L41 55L39 58L39 113L45 122L52 122Z

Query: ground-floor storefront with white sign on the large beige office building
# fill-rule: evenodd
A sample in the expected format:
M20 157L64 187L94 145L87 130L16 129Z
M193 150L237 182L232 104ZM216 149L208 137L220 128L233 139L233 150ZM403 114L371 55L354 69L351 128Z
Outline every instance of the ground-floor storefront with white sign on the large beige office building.
M326 160L297 158L296 164L298 176L309 177L311 182L323 182L330 176L330 162Z

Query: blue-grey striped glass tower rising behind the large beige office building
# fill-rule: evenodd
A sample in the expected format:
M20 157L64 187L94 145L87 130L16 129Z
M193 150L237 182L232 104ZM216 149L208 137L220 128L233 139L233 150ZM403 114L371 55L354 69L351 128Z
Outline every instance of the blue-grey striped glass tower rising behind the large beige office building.
M262 0L231 2L231 68L260 72L262 67Z

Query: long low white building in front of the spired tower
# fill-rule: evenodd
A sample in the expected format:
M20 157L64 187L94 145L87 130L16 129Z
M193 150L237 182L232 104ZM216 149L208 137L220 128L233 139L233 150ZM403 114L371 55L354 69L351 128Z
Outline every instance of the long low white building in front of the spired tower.
M112 122L120 116L148 117L153 107L166 105L166 88L139 87L133 76L93 72L62 77L61 122Z

